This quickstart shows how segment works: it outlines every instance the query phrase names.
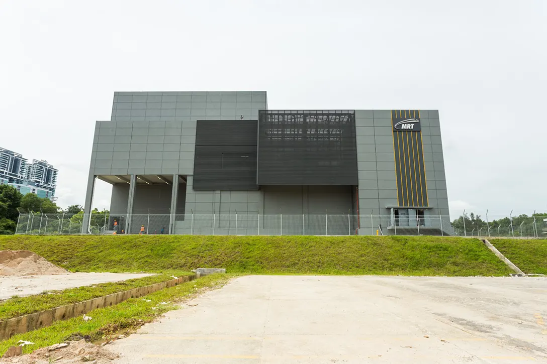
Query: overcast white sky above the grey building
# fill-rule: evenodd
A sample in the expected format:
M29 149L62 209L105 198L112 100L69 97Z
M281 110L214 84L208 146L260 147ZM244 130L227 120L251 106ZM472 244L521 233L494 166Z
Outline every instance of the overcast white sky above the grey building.
M2 0L0 34L0 146L59 168L63 208L114 91L266 90L272 109L439 109L452 218L547 211L545 0Z

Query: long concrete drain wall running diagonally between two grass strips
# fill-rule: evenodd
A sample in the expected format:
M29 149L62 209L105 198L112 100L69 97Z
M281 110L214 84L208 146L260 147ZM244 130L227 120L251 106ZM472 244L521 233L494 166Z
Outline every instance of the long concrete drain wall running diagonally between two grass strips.
M107 296L92 298L88 301L71 303L66 306L0 321L0 340L9 339L11 336L18 333L25 333L37 330L38 328L48 327L55 321L72 319L97 308L113 306L125 300L129 300L129 298L146 296L164 288L173 287L194 279L196 279L195 274L185 275L184 277L166 280L165 282L155 283L149 286L133 288L123 292L112 293Z

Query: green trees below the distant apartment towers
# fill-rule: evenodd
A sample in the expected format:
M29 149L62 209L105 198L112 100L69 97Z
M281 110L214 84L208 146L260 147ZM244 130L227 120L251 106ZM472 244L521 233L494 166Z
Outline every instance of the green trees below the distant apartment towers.
M62 209L49 198L42 198L34 193L22 195L15 187L10 185L0 185L0 235L14 234L17 227L19 212L40 214L65 214L68 223L66 225L81 227L84 219L84 209L81 205L71 205ZM91 212L90 226L92 230L101 229L108 224L108 210L98 211L94 209ZM58 222L53 222L58 224ZM53 229L55 225L50 225ZM65 228L63 228L63 231Z

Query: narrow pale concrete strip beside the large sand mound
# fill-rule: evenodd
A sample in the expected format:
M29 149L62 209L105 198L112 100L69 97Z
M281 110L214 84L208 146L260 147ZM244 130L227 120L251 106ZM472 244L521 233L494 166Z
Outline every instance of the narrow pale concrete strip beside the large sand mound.
M64 290L98 283L142 278L140 273L67 273L55 275L23 275L0 277L0 300L11 296L37 295L43 291Z

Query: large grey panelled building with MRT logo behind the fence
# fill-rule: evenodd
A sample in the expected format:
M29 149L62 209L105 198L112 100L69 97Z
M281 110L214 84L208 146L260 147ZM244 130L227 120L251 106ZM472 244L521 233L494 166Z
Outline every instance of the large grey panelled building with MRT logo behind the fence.
M301 225L348 215L346 234L374 232L371 215L388 216L384 234L448 233L430 220L450 221L438 110L269 109L265 91L114 92L112 118L96 122L86 213L97 178L112 184L110 225L131 233L148 214L164 220L147 229L165 233L189 233L191 214L216 214L217 234L231 233L217 219L235 214L238 233L268 233L271 215L286 216L284 233L302 233L297 215Z

